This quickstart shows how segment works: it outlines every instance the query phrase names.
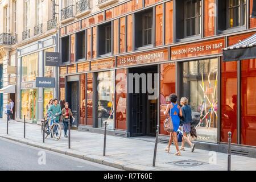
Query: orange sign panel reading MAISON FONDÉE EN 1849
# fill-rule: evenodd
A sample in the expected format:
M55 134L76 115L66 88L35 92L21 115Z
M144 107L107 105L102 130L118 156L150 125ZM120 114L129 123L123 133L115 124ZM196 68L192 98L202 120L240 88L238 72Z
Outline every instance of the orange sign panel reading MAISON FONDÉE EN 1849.
M224 38L171 47L171 60L222 53Z

